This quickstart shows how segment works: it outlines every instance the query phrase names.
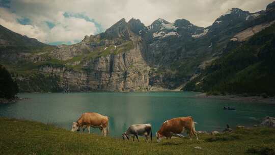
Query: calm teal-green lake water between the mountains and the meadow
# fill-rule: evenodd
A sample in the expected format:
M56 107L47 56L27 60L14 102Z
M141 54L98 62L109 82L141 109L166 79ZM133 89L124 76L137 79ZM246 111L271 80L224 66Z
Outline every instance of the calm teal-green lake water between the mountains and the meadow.
M15 104L0 105L0 117L53 123L71 129L82 113L97 112L109 117L110 134L121 136L136 123L151 123L156 132L163 121L193 116L197 131L222 131L229 124L252 126L260 118L275 116L275 105L214 98L198 98L192 92L92 92L19 94ZM223 110L224 106L236 111ZM20 126L18 126L20 127ZM99 133L98 129L92 132Z

